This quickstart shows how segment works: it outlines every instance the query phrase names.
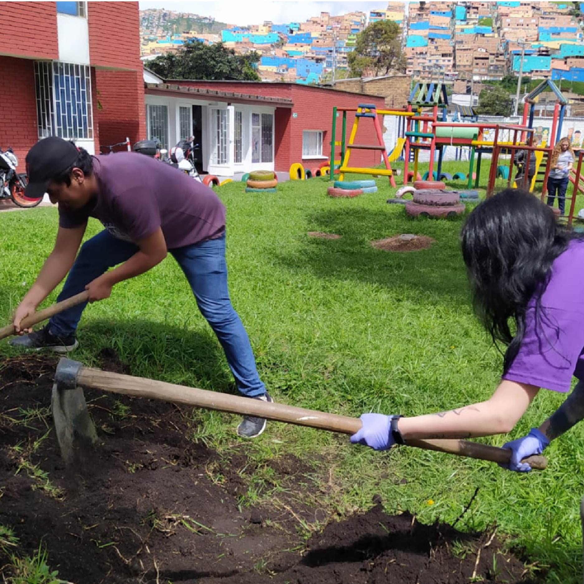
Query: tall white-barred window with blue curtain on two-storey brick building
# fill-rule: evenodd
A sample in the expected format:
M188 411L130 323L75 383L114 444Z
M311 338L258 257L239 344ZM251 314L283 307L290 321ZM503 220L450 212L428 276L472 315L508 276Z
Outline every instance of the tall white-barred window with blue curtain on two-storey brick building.
M34 63L39 138L92 140L91 69L58 61Z

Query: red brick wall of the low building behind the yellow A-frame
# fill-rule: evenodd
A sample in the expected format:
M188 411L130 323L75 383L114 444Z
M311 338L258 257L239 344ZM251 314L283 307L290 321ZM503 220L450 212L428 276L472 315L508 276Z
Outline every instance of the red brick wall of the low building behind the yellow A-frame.
M302 133L303 130L322 130L323 144L322 153L329 156L331 147L331 124L332 108L357 107L359 103L374 103L378 108L383 109L385 100L371 95L360 93L349 93L335 91L332 89L315 88L298 84L274 83L246 83L232 81L169 81L179 85L199 87L203 89L215 89L217 91L232 91L237 93L247 93L248 95L264 95L273 98L291 98L294 105L292 109L276 107L274 125L276 126L276 136L274 151L275 168L277 171L288 171L294 162L302 162L304 168L318 166L321 160L302 159ZM276 105L276 104L274 104ZM297 113L297 117L292 117L292 112ZM336 139L340 140L342 128L342 114L337 118ZM353 126L354 114L347 113L347 141L351 127ZM357 132L355 141L360 144L377 144L377 137L373 128L373 120L361 118L360 129ZM383 126L383 116L380 116L380 124ZM340 147L337 147L337 154ZM381 159L381 152L371 150L354 150L351 154L350 165L354 166L374 166Z

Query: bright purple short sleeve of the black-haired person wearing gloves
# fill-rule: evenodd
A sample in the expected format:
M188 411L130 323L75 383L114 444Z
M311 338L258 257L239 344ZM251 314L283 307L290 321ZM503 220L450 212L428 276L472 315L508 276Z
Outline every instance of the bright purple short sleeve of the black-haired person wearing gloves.
M584 313L542 308L526 314L526 332L519 353L503 379L567 392L584 347Z

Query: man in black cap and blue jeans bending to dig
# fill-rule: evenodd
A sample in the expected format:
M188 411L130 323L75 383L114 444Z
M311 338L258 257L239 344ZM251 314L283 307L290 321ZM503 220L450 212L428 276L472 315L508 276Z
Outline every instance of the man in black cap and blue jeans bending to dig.
M57 353L76 349L75 331L86 303L54 316L39 331L23 331L20 322L67 273L58 301L88 290L89 302L95 302L108 298L114 284L162 262L169 251L223 346L238 390L246 397L272 401L231 305L225 207L213 190L143 154L91 156L57 137L37 142L26 156L26 166L26 196L40 199L48 193L51 202L58 203L59 228L53 251L16 309L13 324L20 336L11 341L13 346ZM101 221L105 230L81 245L89 217ZM237 433L254 438L265 427L265 419L245 416Z

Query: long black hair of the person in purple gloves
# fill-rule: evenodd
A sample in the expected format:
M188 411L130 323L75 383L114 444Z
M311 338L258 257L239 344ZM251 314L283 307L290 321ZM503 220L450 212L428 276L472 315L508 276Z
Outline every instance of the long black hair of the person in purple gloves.
M552 263L576 237L558 225L550 207L519 189L501 191L468 216L462 248L473 305L493 342L507 345L505 372L522 345L529 301L540 315Z

